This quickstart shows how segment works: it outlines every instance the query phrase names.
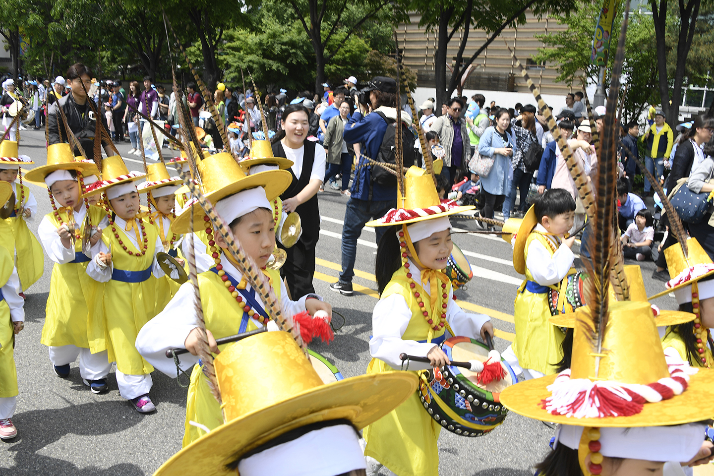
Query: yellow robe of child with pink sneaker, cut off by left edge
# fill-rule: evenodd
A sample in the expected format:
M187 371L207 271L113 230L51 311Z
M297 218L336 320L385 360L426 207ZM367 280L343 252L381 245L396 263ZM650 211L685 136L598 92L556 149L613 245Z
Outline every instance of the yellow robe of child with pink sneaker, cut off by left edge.
M0 247L0 283L5 285L12 275L14 261L12 254ZM6 301L0 301L0 397L15 397L17 388L17 368L15 367L15 332Z

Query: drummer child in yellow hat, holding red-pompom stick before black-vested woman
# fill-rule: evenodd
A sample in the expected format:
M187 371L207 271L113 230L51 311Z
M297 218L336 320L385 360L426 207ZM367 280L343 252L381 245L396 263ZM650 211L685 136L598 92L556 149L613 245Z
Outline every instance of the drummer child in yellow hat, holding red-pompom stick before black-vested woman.
M216 204L216 211L229 224L246 255L251 256L259 267L265 268L275 248L275 223L268 197L272 199L287 188L291 180L290 173L273 170L246 176L228 153L218 153L203 159L198 164L198 171L208 201ZM191 231L188 213L191 213L191 208L176 218L173 226L176 231ZM246 283L246 278L225 252L227 245L223 238L211 230L210 223L206 225L200 206L194 206L193 213L194 228L208 228L209 243L213 243L211 252L215 256L213 267L198 275L201 307L209 341L215 342L218 338L268 325L268 307ZM263 269L263 272L273 283L273 290L286 315L293 316L305 310L311 315L317 310L331 311L330 305L319 300L317 295L289 300L279 271ZM198 329L193 293L192 283L181 285L164 311L146 324L136 339L136 348L141 355L171 377L176 377L176 365L174 360L166 358L166 350L186 347L191 354L196 355ZM268 329L276 330L274 326L268 325ZM214 344L212 350L218 353L226 345L216 348ZM181 368L191 368L196 360L181 355ZM198 425L191 425L191 422ZM208 390L201 367L196 365L188 387L183 445L205 434L205 428L213 430L222 424L223 416L218 402Z

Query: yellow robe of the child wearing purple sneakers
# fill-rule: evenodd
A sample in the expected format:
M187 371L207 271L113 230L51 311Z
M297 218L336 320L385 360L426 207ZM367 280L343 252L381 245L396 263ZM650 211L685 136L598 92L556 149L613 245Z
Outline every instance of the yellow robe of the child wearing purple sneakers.
M149 246L142 256L129 255L114 236L112 226L104 229L102 239L111 250L114 273L117 270L146 271L151 273L156 246L156 227L144 221ZM128 250L138 251L127 238L121 226L114 225L119 239ZM134 231L129 231L134 233ZM140 243L141 244L141 243ZM106 325L106 350L109 362L116 362L116 368L127 375L144 375L154 371L154 367L139 355L134 347L136 335L144 324L156 315L156 282L149 278L140 283L126 283L109 280L104 289L104 323Z

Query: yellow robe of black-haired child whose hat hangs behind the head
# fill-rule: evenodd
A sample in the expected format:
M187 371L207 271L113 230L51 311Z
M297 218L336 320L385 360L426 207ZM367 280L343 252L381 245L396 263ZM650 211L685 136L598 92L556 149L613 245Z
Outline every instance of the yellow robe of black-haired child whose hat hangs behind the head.
M555 254L553 245L540 235L531 233L526 240L526 259L528 246L533 240L543 243L550 255ZM556 372L555 364L563 358L563 338L565 334L555 325L548 322L550 308L548 307L548 293L531 293L526 289L526 283L533 281L531 270L526 268L526 280L518 288L516 302L513 305L513 318L516 321L516 338L513 339L513 353L518 357L521 368L537 370L545 375ZM558 289L556 285L548 286Z

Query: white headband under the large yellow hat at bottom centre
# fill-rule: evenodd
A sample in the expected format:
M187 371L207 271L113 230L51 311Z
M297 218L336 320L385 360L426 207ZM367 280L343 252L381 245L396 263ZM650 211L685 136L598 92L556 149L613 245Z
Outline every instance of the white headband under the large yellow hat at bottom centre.
M241 476L334 476L366 468L357 433L349 425L311 431L238 462Z

